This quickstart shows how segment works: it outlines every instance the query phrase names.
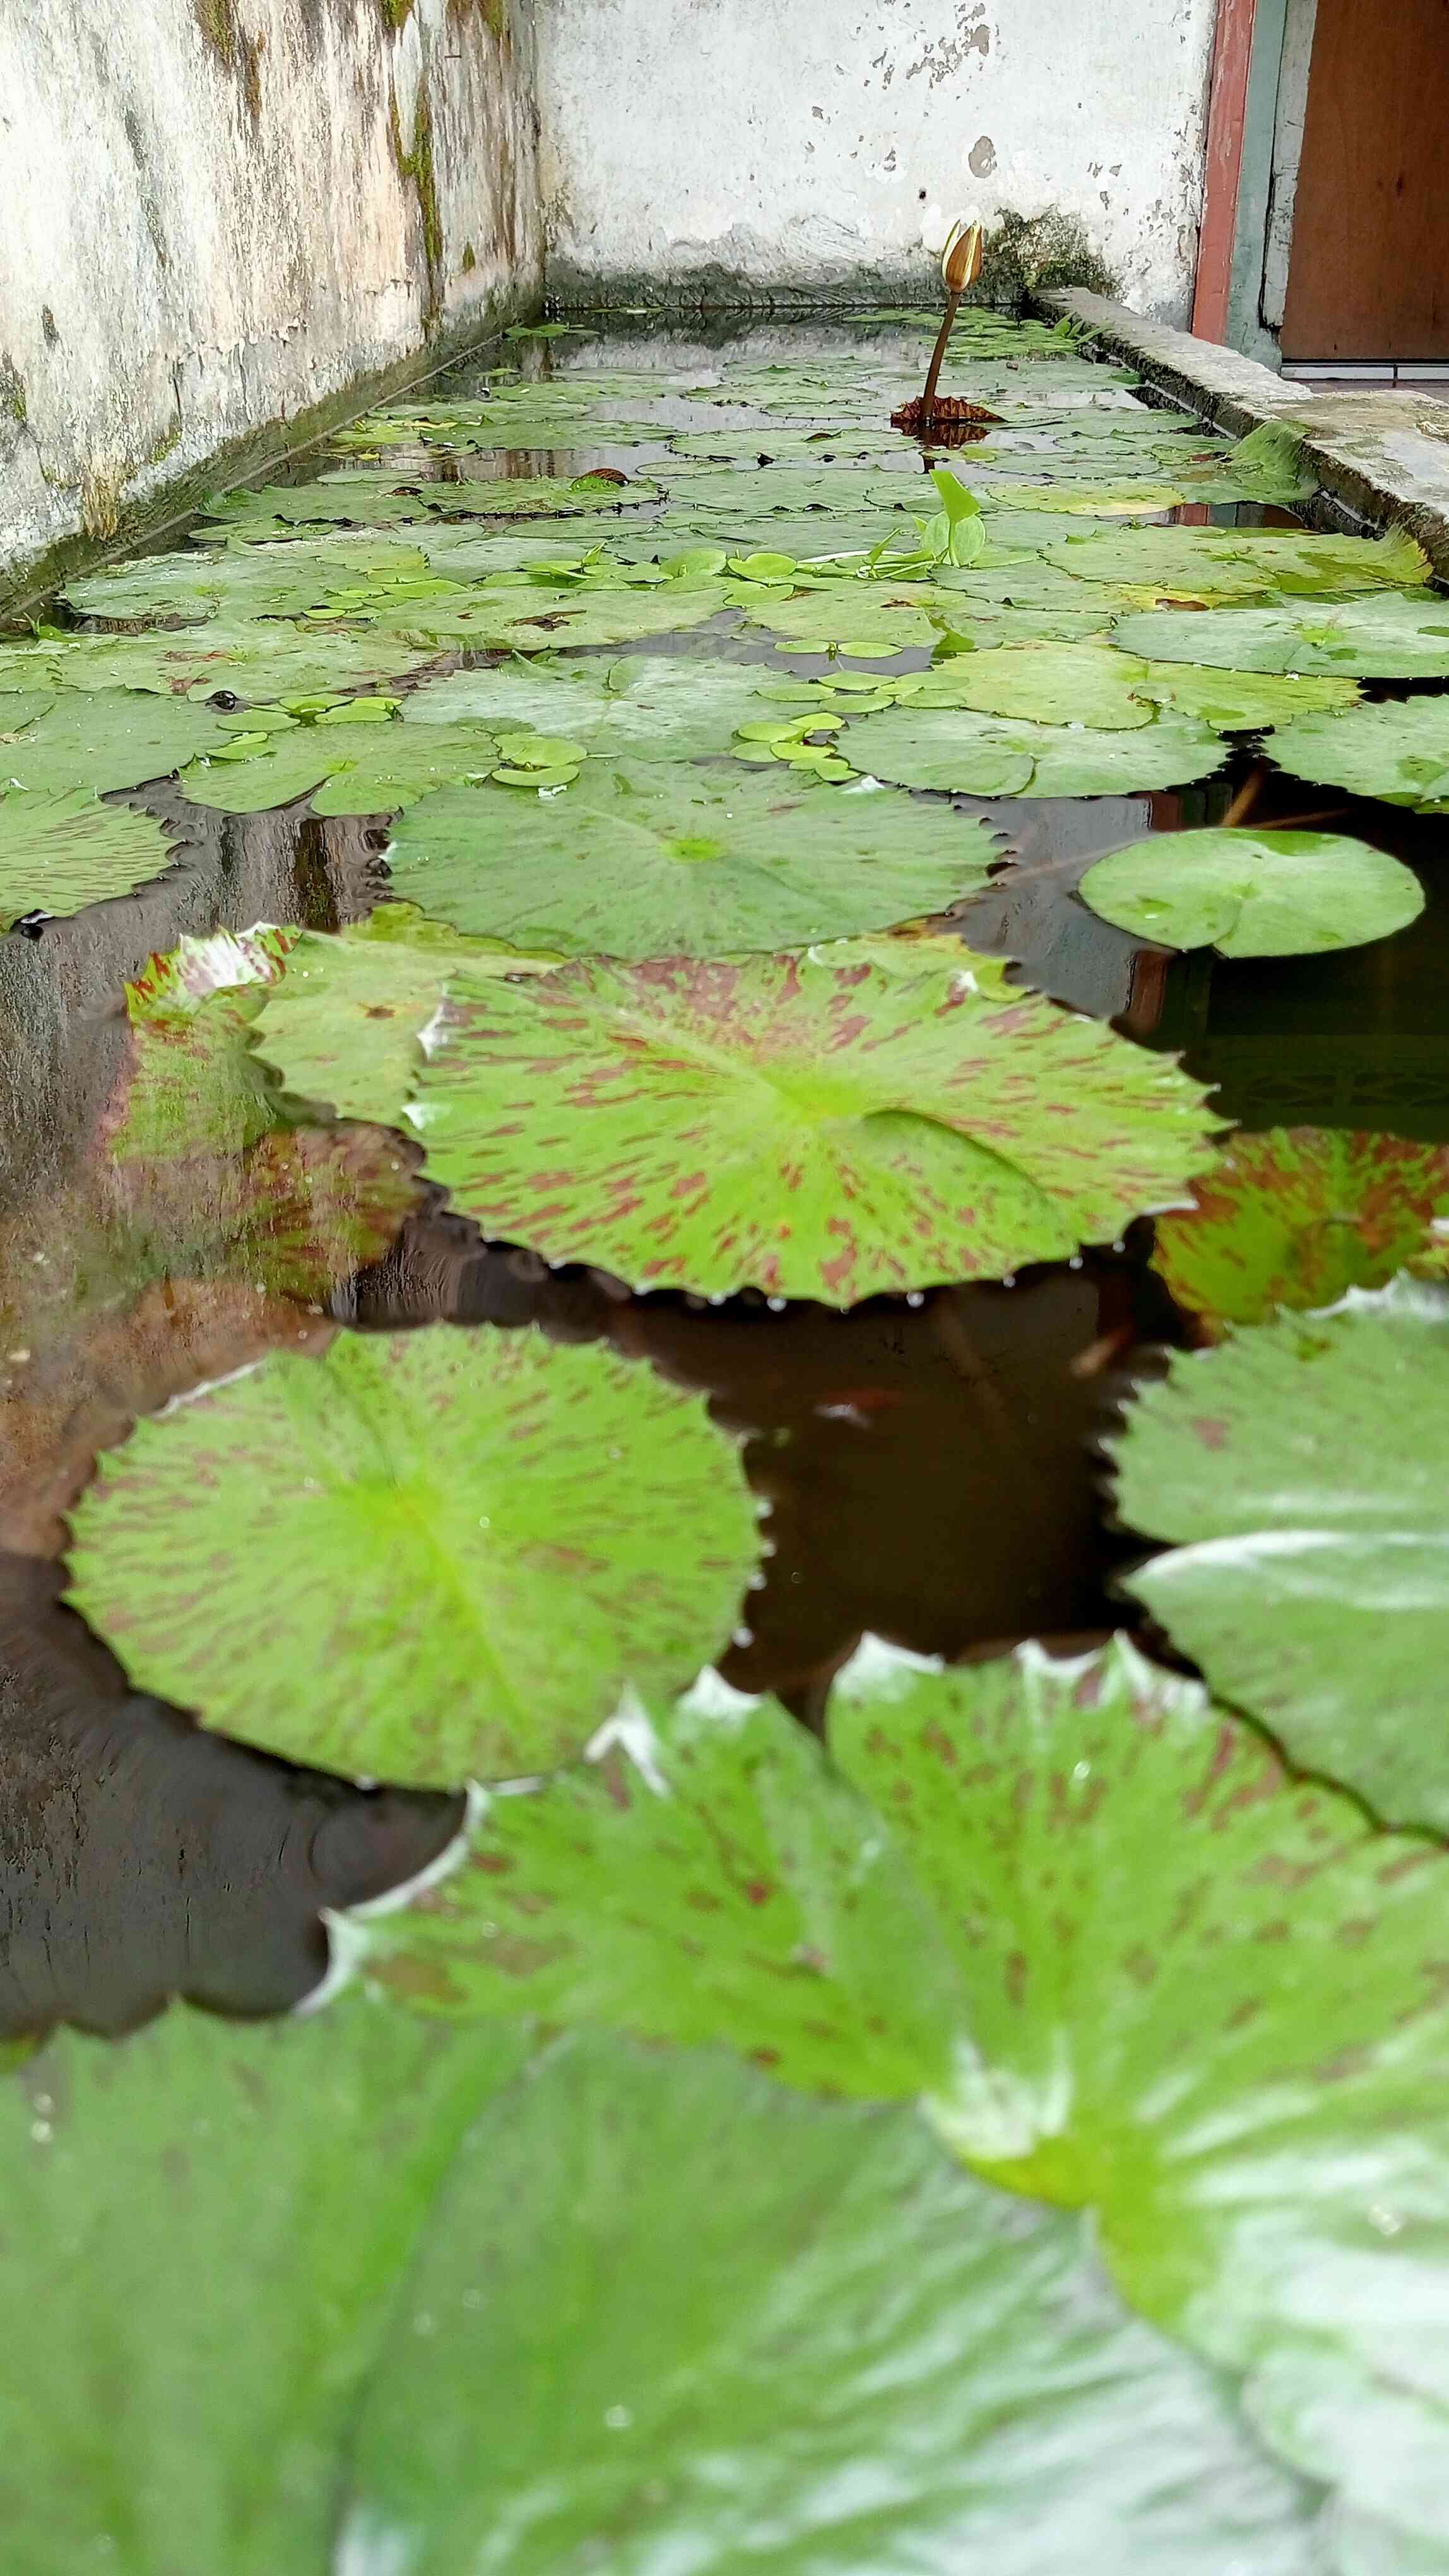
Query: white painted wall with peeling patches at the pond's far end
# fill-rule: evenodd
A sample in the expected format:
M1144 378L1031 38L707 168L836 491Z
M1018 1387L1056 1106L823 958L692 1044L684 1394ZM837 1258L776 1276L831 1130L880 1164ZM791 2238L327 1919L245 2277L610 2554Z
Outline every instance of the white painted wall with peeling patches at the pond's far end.
M551 283L924 273L1078 216L1186 319L1215 0L538 0Z

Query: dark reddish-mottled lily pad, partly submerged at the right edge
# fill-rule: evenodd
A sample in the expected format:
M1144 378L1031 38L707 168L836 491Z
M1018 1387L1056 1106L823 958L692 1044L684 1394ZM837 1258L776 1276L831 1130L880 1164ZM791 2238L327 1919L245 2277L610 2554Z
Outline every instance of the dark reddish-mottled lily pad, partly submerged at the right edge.
M1341 1128L1230 1136L1194 1182L1194 1206L1158 1216L1153 1270L1220 1340L1277 1306L1333 1306L1423 1257L1449 1213L1449 1146Z

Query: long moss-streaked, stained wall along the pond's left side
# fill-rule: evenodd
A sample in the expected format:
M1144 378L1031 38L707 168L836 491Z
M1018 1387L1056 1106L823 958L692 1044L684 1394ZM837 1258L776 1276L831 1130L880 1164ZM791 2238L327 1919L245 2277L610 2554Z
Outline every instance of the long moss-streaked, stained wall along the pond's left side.
M535 304L533 0L0 10L0 564Z

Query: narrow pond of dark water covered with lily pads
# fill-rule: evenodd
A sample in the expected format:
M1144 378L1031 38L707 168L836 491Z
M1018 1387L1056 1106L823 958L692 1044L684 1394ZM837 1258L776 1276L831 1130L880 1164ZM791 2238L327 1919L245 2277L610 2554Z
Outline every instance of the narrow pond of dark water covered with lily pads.
M15 2576L1449 2571L1449 600L932 337L0 636Z

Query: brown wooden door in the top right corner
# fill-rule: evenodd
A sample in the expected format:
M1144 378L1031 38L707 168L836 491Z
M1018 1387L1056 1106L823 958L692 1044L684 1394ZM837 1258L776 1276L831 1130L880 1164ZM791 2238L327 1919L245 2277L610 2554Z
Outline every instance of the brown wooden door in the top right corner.
M1284 358L1449 358L1449 0L1318 0Z

